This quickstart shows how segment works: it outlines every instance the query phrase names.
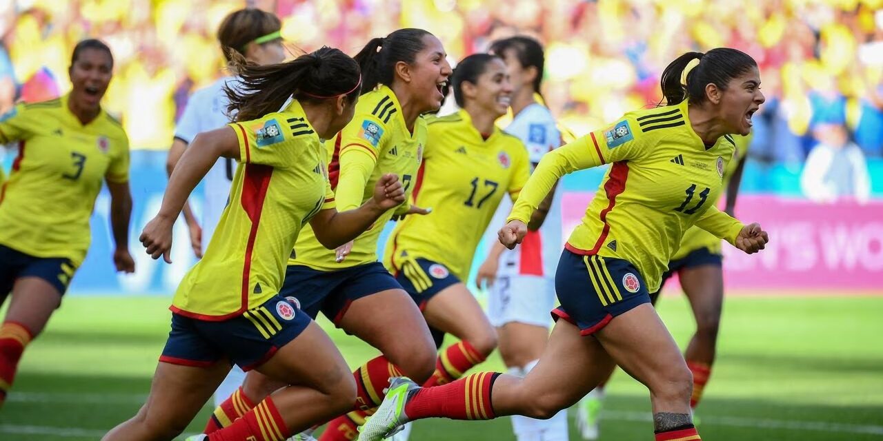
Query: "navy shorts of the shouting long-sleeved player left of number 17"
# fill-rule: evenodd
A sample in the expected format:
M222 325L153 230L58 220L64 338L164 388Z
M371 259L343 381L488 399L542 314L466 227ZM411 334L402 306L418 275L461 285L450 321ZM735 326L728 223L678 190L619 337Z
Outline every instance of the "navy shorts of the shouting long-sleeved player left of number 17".
M301 310L315 319L319 312L335 325L351 303L387 289L402 289L380 262L320 271L306 265L288 265L280 295L297 300Z

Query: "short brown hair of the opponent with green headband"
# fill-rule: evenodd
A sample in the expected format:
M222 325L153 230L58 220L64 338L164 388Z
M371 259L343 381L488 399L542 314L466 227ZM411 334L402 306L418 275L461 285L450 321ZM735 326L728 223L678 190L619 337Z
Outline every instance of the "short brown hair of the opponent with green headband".
M245 55L245 46L248 43L267 34L273 34L282 29L282 22L275 14L260 11L257 8L245 8L230 12L224 17L221 26L218 27L218 41L223 49L223 56L230 59L230 49Z

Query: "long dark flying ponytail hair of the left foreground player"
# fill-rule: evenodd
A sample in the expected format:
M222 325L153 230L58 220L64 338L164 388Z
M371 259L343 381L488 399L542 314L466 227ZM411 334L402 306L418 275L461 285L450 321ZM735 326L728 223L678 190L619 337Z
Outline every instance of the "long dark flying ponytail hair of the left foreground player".
M340 49L323 47L280 64L246 64L231 52L231 68L240 81L224 86L227 111L236 121L248 121L279 111L288 97L317 102L346 93L348 102L361 94L358 64Z

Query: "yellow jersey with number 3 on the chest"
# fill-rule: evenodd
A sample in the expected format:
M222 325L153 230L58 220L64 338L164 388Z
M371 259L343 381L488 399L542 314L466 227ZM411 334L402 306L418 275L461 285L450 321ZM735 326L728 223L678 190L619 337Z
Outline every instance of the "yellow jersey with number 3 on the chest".
M19 143L0 190L0 243L39 258L86 258L89 216L106 179L129 180L129 140L103 110L83 125L68 95L17 106L0 121L0 144Z

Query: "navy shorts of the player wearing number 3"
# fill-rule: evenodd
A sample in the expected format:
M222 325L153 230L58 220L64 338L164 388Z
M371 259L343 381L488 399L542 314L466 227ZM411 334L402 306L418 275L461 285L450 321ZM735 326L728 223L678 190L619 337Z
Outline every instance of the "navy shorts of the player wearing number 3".
M64 295L76 271L77 266L69 258L37 258L0 245L0 304L21 277L39 277Z

